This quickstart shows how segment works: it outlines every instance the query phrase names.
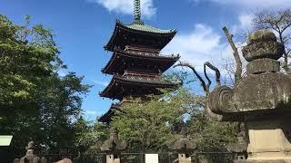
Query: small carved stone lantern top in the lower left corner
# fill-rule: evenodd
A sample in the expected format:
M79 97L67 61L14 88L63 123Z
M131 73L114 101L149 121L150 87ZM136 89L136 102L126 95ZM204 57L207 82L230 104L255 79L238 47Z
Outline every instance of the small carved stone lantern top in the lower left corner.
M46 158L39 158L35 156L35 142L30 141L25 148L26 155L23 158L15 158L14 163L46 163Z

